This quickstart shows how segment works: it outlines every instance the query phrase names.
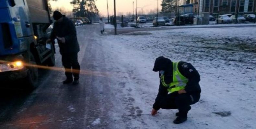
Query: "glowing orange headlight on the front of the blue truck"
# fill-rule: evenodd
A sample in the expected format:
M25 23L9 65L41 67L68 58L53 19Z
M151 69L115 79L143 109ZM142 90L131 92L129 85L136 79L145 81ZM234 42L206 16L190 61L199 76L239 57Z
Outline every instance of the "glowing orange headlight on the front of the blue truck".
M24 68L24 63L22 61L8 62L0 64L0 72L20 70Z

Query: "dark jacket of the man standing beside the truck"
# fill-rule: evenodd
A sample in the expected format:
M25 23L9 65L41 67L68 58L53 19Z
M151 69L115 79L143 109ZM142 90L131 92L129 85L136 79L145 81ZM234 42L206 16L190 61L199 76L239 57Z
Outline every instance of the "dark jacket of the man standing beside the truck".
M56 36L65 38L65 43L61 43L58 40L60 53L62 55L79 52L80 48L76 38L76 27L73 21L64 15L62 22L55 22L53 25L52 34L50 37L51 40L54 40Z

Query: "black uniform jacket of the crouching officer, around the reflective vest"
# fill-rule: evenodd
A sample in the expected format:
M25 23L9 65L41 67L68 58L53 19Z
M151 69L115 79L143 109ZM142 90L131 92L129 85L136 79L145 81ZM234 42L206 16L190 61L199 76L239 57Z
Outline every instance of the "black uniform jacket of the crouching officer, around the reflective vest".
M164 81L166 84L170 84L173 81L173 68L172 68L172 63L169 64L169 71L165 71L164 75ZM197 72L197 70L192 66L192 64L190 63L186 63L186 62L182 62L180 61L178 63L178 69L180 71L180 73L185 76L186 78L188 78L188 83L185 86L185 91L187 92L187 94L193 95L193 96L198 96L200 97L200 93L201 93L201 88L199 85L199 81L200 81L200 75ZM160 77L160 74L159 74ZM159 101L161 100L161 98L166 97L168 94L168 90L167 87L163 86L160 82L159 85L159 89L158 89L158 94L157 94L157 98L156 101L153 105L153 108L155 110L159 110L160 107L158 106ZM177 92L171 93L171 94L177 94Z

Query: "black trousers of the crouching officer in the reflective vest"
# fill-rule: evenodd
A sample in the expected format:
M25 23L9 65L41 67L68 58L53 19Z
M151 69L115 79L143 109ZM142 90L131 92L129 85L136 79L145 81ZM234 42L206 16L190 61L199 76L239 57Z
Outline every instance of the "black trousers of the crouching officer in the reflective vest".
M174 92L163 97L159 102L159 106L162 109L178 109L179 116L187 117L188 111L191 109L190 105L197 103L199 99L200 93L190 95Z

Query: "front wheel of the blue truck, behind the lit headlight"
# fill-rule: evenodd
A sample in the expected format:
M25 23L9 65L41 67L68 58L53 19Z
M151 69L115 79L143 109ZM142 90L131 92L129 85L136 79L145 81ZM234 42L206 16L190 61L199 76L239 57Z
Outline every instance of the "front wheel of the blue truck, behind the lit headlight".
M29 64L36 65L35 58L30 54ZM28 74L24 79L26 84L26 89L33 90L38 85L38 68L33 66L28 66Z

